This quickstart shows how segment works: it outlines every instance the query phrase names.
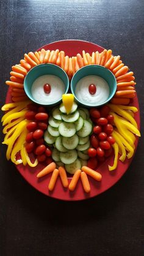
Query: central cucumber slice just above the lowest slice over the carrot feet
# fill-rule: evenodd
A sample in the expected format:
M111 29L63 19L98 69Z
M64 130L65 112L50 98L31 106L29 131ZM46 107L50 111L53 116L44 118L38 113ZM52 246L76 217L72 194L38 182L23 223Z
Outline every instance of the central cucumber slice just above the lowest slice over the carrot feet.
M60 152L60 161L63 164L71 164L77 159L76 150L68 150L66 153Z

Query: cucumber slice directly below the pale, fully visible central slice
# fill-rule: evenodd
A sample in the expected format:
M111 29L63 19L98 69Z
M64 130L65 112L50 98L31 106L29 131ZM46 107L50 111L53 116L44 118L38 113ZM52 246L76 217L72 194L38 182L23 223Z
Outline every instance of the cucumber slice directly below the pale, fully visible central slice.
M72 150L72 149L76 148L77 145L79 144L79 137L76 134L74 134L74 136L68 137L68 138L63 137L62 144L68 150Z

